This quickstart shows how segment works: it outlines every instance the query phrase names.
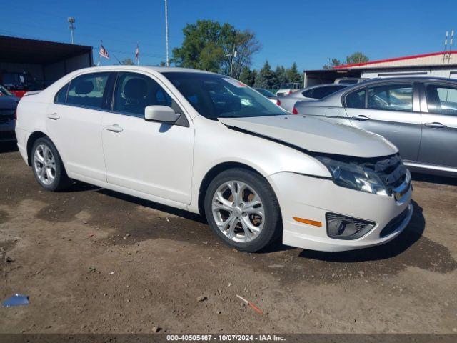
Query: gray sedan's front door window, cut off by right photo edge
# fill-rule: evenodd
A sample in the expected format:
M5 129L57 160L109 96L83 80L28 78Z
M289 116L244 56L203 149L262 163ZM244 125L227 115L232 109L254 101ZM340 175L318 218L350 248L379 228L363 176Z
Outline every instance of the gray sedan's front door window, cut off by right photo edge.
M429 112L457 115L457 88L442 84L427 84L426 96Z

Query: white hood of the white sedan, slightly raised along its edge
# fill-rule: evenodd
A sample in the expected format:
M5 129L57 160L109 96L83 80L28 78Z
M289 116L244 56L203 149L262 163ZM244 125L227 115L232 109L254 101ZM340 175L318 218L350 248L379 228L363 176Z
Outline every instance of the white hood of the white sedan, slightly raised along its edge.
M378 134L306 116L219 118L222 124L313 152L354 157L396 154L398 149Z

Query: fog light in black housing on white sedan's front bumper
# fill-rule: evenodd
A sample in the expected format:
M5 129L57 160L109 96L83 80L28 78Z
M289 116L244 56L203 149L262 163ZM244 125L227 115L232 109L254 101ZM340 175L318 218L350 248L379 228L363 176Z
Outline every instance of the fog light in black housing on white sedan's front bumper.
M368 233L376 223L340 214L327 213L327 234L335 239L358 239Z

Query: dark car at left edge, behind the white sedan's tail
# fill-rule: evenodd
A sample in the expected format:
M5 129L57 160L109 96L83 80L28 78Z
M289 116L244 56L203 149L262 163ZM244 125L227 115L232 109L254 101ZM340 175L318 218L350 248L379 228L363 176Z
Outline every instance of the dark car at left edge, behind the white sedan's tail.
M0 84L0 141L14 141L14 119L19 98Z

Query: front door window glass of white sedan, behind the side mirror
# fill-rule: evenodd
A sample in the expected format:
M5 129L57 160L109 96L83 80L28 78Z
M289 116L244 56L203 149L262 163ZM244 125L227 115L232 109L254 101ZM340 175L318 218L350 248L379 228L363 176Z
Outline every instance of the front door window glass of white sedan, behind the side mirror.
M144 116L146 106L172 106L169 94L149 76L121 73L114 91L114 111Z

